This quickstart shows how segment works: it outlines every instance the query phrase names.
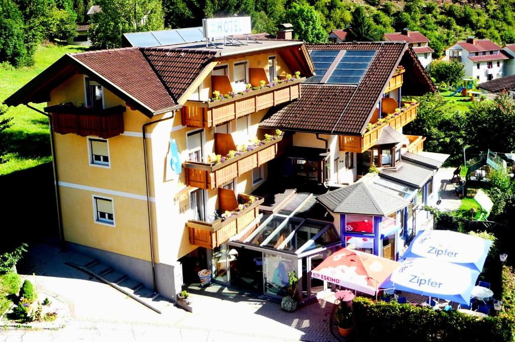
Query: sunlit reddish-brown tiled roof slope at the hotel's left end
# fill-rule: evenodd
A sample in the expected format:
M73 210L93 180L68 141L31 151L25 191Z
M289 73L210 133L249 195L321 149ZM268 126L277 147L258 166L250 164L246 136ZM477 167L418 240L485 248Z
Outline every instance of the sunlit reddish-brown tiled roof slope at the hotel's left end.
M177 104L139 48L81 52L73 54L72 58L145 104L152 112L161 112Z

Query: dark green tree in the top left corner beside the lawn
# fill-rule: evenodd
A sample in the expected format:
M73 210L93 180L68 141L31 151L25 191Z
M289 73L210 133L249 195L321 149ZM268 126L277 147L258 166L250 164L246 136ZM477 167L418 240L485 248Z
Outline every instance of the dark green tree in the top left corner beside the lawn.
M12 0L0 0L0 62L14 66L30 64L23 40L23 16ZM0 112L4 114L4 111ZM0 132L4 121L0 121ZM1 153L1 152L0 152Z

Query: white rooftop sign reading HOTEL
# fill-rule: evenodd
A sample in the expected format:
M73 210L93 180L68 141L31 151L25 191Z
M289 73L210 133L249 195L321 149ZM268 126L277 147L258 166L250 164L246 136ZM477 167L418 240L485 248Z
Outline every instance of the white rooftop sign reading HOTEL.
M252 33L250 16L203 19L202 27L207 39Z

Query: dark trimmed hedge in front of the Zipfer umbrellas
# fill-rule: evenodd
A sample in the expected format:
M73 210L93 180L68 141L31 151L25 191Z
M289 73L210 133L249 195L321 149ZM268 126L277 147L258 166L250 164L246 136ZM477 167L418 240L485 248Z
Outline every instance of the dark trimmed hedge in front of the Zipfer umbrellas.
M514 341L509 317L477 318L457 311L357 297L353 302L356 341L507 342Z

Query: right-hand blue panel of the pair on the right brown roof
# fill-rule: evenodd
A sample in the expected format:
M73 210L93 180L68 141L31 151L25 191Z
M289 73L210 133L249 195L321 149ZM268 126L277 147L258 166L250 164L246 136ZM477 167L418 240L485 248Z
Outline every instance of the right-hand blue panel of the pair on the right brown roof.
M358 84L374 55L375 50L345 51L325 83Z

